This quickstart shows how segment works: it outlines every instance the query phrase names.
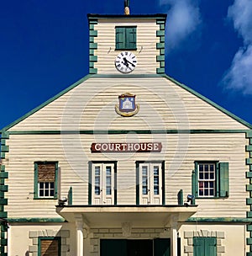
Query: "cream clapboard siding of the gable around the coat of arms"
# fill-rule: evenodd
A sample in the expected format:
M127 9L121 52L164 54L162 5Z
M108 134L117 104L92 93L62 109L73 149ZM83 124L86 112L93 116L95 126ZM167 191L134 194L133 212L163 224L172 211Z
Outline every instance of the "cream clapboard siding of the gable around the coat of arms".
M115 112L118 95L134 93L139 113ZM10 131L248 129L163 77L89 78Z

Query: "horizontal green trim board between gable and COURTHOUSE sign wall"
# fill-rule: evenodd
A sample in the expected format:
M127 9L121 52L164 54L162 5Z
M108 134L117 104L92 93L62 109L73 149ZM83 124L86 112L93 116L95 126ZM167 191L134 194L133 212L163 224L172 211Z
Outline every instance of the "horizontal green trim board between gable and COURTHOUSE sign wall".
M9 131L10 135L60 135L60 134L219 134L219 133L246 133L246 130L81 130L81 131Z

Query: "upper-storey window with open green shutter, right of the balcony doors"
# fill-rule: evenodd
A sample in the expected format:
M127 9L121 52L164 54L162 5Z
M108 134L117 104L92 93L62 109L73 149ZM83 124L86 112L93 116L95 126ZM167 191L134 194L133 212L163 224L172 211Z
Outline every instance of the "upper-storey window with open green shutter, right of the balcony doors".
M195 162L192 194L201 197L228 197L228 163Z

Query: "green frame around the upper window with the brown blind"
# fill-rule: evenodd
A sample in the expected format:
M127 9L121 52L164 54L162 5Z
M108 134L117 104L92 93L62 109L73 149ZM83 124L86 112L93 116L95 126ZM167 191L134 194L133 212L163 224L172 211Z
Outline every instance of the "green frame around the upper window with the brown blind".
M55 164L55 195L53 197L39 197L39 171L38 163L54 163ZM59 173L59 163L57 161L36 161L34 162L34 200L56 200L58 198L58 173Z

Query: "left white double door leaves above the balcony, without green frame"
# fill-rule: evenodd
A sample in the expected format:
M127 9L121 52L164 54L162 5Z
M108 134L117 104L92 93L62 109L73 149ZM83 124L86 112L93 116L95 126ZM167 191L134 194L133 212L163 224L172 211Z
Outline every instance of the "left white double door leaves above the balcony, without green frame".
M92 164L92 205L114 204L114 164Z

